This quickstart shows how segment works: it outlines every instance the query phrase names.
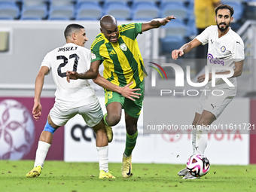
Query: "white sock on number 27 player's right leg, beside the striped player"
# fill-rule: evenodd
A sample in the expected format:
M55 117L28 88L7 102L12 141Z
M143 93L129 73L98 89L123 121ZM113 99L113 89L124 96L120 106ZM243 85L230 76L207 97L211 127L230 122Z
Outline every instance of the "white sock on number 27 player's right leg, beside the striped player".
M108 172L108 145L105 147L96 147L99 154L99 170Z

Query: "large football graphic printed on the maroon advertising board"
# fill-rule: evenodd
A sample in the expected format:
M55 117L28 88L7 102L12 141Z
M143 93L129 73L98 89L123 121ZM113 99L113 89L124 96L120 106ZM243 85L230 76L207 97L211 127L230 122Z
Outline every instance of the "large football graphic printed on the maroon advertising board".
M0 102L0 160L20 160L35 138L29 110L14 99Z

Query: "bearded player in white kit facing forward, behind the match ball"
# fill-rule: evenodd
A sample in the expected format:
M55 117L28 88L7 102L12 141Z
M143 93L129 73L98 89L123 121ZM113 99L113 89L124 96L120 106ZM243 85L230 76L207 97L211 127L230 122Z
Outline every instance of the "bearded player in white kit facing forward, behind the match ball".
M236 96L236 77L242 74L242 66L244 61L244 44L242 38L230 29L230 23L233 20L233 8L229 5L219 5L215 8L215 22L217 26L209 26L200 35L194 38L187 44L184 44L178 50L172 51L172 59L177 59L184 53L194 49L200 44L209 44L207 66L209 66L209 82L206 84L205 90L200 96L196 114L193 120L195 129L192 131L192 147L194 154L204 154L207 146L207 129L206 126L212 124L216 120L224 108ZM223 78L218 78L215 81L215 87L212 86L212 69L216 75L229 75L228 78L233 87L227 84ZM232 70L233 69L233 70ZM232 75L233 72L233 75ZM197 81L202 83L207 78L206 74L200 75ZM221 96L214 96L212 91L221 90ZM194 179L187 172L187 169L182 169L178 175L184 176L184 179Z

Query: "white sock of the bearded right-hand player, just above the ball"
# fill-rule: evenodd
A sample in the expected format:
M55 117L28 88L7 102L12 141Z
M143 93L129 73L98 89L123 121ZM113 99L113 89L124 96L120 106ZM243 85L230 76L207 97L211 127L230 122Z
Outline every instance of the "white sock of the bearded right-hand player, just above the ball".
M202 126L197 125L197 137L195 154L204 154L208 142L208 131L204 130Z

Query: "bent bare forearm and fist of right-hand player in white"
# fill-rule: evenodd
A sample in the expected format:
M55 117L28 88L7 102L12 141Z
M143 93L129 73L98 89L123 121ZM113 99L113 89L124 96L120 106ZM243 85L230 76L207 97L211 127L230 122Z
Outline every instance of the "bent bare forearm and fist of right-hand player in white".
M194 49L194 47L197 47L200 44L201 42L198 41L197 38L194 38L194 40L190 41L187 44L184 44L178 50L172 50L172 59L178 59L178 56L183 56L184 53L190 52L190 50Z

